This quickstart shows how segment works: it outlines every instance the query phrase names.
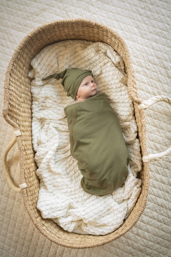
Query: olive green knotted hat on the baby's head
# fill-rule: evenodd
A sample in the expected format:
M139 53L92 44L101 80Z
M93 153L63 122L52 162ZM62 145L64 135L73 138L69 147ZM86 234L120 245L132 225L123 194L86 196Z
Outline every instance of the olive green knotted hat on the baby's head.
M81 81L87 76L93 76L91 70L81 70L79 68L65 69L60 73L53 73L52 75L43 78L42 80L47 80L50 78L56 78L59 80L62 78L61 84L67 92L67 96L71 96L76 100L76 93L78 91Z

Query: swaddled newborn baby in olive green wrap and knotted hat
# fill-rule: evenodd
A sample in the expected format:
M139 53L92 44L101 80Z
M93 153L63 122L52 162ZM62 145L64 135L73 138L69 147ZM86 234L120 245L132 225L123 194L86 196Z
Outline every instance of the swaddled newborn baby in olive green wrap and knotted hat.
M81 186L88 194L110 194L128 175L129 152L118 117L105 93L96 94L91 70L65 69L42 80L62 78L67 96L76 102L64 108L70 153L78 161Z

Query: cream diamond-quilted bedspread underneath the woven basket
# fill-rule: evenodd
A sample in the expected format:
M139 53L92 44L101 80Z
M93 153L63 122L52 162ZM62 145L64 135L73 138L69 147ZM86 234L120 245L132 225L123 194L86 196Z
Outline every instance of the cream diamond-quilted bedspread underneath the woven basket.
M139 97L142 100L157 95L171 97L169 0L1 0L0 6L0 256L171 256L171 156L149 163L147 205L136 225L117 240L90 249L65 248L46 239L29 218L22 195L7 185L2 165L4 148L13 136L13 128L2 117L5 72L14 50L29 32L39 25L58 19L82 17L101 22L125 39L131 54ZM170 113L170 106L163 102L146 111L149 154L164 151L170 146ZM15 145L8 154L8 164L16 185L19 181L17 155Z

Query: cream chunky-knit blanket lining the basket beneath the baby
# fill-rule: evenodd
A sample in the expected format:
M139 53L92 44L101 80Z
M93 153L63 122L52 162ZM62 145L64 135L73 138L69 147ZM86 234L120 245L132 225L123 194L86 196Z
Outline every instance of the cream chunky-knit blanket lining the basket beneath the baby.
M105 43L68 40L45 47L31 64L32 143L40 178L37 208L43 218L53 219L69 232L79 226L87 234L109 234L122 225L141 191L140 142L123 60ZM49 74L76 67L92 70L97 94L105 93L115 110L130 154L124 186L103 196L82 190L82 174L70 155L64 107L74 100L67 97L60 80L42 81Z

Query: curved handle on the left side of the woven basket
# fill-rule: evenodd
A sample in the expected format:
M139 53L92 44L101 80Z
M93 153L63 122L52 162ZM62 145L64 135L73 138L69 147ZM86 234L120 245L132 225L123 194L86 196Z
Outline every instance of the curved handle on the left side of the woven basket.
M22 188L26 188L27 185L26 183L23 183L23 184L19 184L19 187L17 187L11 176L10 176L10 171L8 169L8 165L7 165L7 155L10 151L10 149L13 147L13 145L15 145L17 139L16 137L17 136L20 136L21 133L20 133L20 130L15 130L14 131L14 136L13 138L11 139L11 141L9 142L9 144L6 146L5 150L4 150L4 156L3 156L3 166L4 166L4 172L5 172L5 177L7 179L7 182L8 182L8 185L10 186L10 188L12 188L14 191L18 192L18 193L21 193L21 189Z

